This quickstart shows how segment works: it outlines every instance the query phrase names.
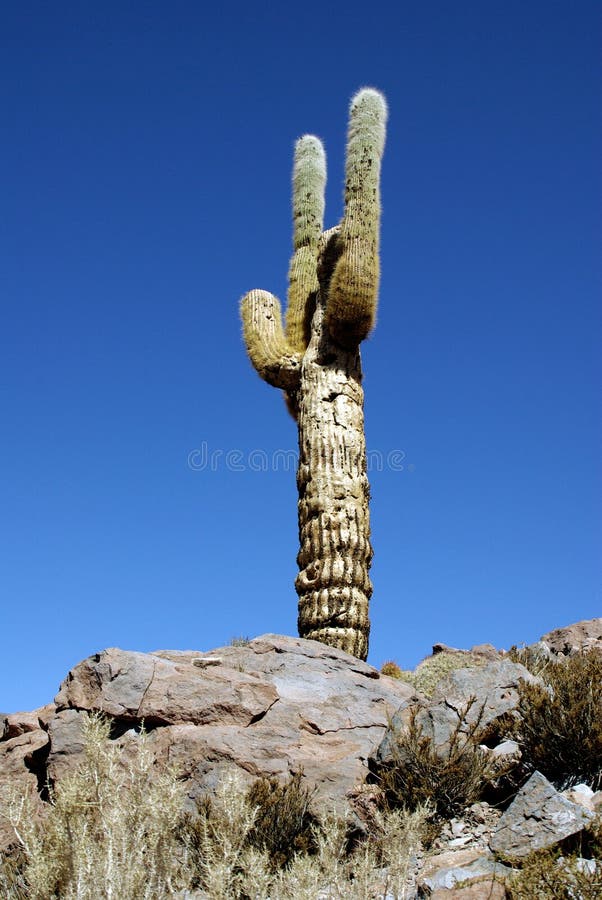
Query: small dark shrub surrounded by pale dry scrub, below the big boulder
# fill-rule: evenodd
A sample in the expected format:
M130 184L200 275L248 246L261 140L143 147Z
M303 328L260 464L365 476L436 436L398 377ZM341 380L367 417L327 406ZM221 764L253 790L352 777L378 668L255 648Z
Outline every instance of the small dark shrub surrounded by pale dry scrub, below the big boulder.
M269 855L274 868L289 864L296 853L315 852L311 797L300 772L284 784L277 778L258 778L249 789L247 804L255 809L249 842Z

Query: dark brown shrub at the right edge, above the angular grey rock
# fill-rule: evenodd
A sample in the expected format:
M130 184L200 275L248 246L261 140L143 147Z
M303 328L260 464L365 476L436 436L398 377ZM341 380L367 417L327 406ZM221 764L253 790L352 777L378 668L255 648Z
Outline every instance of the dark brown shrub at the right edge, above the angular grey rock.
M515 738L523 760L559 788L602 787L602 655L550 662L546 686L519 684Z

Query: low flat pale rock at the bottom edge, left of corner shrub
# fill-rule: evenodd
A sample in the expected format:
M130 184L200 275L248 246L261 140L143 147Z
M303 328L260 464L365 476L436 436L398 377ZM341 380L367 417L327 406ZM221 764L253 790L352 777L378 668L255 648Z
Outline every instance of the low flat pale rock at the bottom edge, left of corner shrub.
M511 868L497 862L490 853L458 850L427 860L418 887L430 897L503 898L503 882L511 873ZM470 893L463 893L467 890Z

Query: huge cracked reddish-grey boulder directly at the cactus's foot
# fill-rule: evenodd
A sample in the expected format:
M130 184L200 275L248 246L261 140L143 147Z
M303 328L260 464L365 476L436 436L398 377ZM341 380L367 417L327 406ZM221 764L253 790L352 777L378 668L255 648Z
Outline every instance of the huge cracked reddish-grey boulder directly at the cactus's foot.
M47 732L39 732L49 750L44 777L60 780L77 764L83 717L100 710L126 758L144 724L157 761L179 768L189 802L233 768L248 782L302 770L316 803L331 809L365 781L389 717L416 699L405 682L297 638L265 635L210 653L109 649L61 685ZM0 743L5 756L9 744ZM12 769L26 777L24 756Z

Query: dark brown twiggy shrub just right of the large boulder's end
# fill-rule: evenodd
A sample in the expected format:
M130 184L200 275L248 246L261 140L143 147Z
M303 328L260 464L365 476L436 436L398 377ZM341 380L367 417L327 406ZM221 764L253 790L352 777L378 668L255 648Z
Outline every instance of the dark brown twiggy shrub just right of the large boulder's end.
M407 726L394 734L390 758L376 768L390 808L412 810L430 803L437 817L451 818L481 797L498 773L487 751L479 746L483 710L474 722L468 722L474 702L469 701L458 715L449 741L440 747L423 733L418 721L420 708L413 708Z

